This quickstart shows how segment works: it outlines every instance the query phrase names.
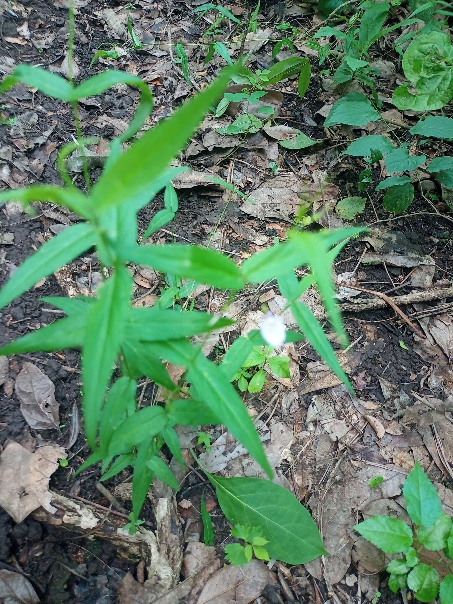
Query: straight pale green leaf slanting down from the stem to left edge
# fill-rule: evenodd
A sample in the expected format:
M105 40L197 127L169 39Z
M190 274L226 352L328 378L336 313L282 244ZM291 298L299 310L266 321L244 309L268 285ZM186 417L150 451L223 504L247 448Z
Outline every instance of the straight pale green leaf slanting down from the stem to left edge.
M44 243L5 283L0 291L0 308L30 289L43 277L57 271L86 249L91 248L95 240L92 226L79 224L68 226L62 233Z

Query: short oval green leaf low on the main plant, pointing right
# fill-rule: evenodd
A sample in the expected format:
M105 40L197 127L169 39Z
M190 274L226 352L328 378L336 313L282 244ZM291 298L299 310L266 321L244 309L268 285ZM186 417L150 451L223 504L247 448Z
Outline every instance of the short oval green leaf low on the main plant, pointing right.
M109 455L129 452L132 447L159 434L166 423L167 416L162 407L152 405L140 409L115 430L109 445Z

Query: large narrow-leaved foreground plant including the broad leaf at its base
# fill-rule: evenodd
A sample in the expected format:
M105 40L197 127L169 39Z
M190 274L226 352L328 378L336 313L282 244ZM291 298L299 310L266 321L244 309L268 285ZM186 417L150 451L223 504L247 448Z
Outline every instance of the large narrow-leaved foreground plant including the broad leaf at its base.
M149 88L137 77L110 70L74 86L56 74L27 65L6 77L0 94L17 83L77 106L80 98L100 94L118 83L135 86L140 103L129 128L112 141L103 172L95 184L87 180L88 193L79 190L65 172L65 158L74 145L63 147L59 168L65 184L33 185L0 193L0 202L19 200L53 202L81 218L49 239L27 259L0 291L0 307L33 287L37 280L95 246L106 278L96 298L45 298L65 313L65 318L7 344L0 355L82 349L83 418L86 440L92 453L79 472L101 463L102 478L132 466L132 513L127 525L140 530L140 510L153 479L178 489L173 472L162 454L165 445L184 464L176 426L219 424L245 447L263 471L272 469L259 435L231 384L252 347L269 344L262 333L240 336L219 364L205 358L196 335L230 326L221 315L131 305L132 277L127 265L150 266L175 280L204 283L235 294L245 284L278 279L282 293L303 334L284 332L282 341L306 337L335 373L349 385L320 324L299 301L315 285L330 324L344 344L341 315L335 303L330 265L347 239L358 229L289 233L288 241L255 254L238 266L220 252L175 243L138 245L138 211L165 188L165 211L176 211L172 178L180 169L168 169L204 117L222 95L234 68L226 68L201 94L182 105L172 117L146 130L123 151L122 144L138 132L152 110ZM81 145L83 149L83 145ZM88 177L88 170L86 170ZM156 224L152 226L154 230ZM294 269L306 266L309 274L299 281ZM177 281L176 281L177 282ZM272 323L272 321L271 321ZM281 338L281 330L278 338ZM275 344L273 344L275 345ZM165 362L185 368L184 379L175 384ZM116 368L115 368L116 367ZM162 388L162 403L140 406L137 380L146 376ZM184 386L187 384L187 386ZM351 388L351 387L350 387ZM324 554L320 533L309 512L286 489L260 478L217 478L208 475L226 517L233 524L263 526L269 556L302 564Z

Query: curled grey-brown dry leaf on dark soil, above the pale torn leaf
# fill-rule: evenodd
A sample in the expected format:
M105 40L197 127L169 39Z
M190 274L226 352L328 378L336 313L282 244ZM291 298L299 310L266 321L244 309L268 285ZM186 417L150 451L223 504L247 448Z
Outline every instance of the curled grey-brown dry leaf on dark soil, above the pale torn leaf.
M30 428L59 429L60 405L55 399L55 386L33 363L25 362L16 379L16 394L21 411Z

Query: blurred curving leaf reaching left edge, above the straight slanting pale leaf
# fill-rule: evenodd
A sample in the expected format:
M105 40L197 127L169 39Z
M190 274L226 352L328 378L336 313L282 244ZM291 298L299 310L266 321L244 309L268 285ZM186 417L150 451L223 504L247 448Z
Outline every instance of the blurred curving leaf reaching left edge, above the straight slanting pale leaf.
M19 201L27 205L32 201L49 201L69 208L79 216L89 219L92 213L89 199L76 188L62 188L55 185L32 185L21 189L10 189L0 193L0 205L8 201Z

